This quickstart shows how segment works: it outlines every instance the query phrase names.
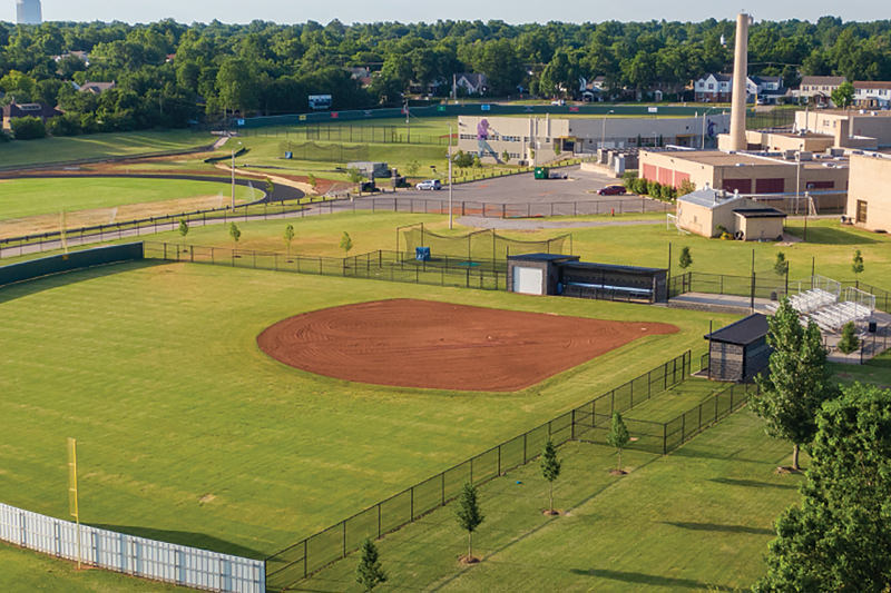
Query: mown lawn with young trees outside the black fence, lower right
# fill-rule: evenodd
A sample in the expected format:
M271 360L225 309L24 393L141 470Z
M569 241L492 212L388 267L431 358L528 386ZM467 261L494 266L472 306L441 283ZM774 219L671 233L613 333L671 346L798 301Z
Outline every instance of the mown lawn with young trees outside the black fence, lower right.
M744 590L765 570L773 521L799 500L801 476L773 470L791 454L747 411L667 456L560 448L559 517L546 517L548 487L531 463L480 491L486 521L473 537L483 562L468 567L454 504L379 542L390 581L381 591L669 592ZM307 591L360 591L358 555L301 583Z

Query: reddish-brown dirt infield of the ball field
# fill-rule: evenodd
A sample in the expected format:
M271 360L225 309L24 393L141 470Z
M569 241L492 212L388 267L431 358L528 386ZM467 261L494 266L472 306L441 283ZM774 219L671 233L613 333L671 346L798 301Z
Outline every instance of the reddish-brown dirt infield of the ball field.
M399 387L516 392L653 334L658 323L607 322L395 299L306 313L257 337L286 365Z

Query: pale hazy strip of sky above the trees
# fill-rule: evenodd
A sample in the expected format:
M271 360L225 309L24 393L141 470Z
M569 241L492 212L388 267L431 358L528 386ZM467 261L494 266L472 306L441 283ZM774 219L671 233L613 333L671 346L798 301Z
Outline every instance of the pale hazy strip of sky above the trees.
M14 0L0 0L0 20L14 21ZM547 22L550 20L599 22L604 20L692 20L711 17L733 18L745 9L755 19L797 18L815 21L831 14L844 20L891 19L888 0L43 0L45 20L148 22L174 18L180 22L249 22L254 19L276 22L315 20L344 23L399 20L402 22L501 19L508 22Z

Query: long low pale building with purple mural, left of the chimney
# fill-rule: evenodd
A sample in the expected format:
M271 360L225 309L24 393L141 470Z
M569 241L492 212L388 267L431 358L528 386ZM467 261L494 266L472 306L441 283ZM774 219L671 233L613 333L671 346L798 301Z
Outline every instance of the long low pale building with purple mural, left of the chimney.
M458 118L458 148L481 155L484 161L547 162L557 154L595 154L598 148L639 146L702 146L703 132L712 138L730 129L730 115L657 118ZM713 140L711 140L713 141Z

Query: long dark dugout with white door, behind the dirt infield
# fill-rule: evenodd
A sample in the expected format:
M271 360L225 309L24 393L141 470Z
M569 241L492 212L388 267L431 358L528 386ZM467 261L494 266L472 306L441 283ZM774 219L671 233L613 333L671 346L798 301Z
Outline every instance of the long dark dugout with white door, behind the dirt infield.
M578 256L526 254L508 257L508 290L601 300L664 303L668 270L579 261Z

